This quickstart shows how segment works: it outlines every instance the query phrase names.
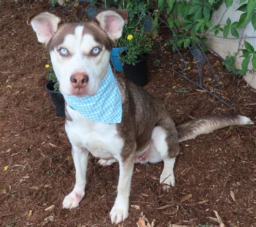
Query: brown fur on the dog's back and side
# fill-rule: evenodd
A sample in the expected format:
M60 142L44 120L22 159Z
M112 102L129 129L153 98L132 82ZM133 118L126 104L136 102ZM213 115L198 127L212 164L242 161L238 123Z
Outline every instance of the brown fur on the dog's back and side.
M134 144L136 153L143 150L151 140L151 134L156 126L161 126L167 133L169 157L179 154L178 133L174 122L166 108L158 100L132 82L117 78L118 87L122 94L123 116L117 126L120 137L124 139L123 159L131 154ZM124 97L123 97L124 96Z

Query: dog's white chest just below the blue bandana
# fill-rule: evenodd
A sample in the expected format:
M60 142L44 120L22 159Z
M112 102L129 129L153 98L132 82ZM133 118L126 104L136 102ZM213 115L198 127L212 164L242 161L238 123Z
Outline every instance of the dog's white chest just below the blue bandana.
M118 136L116 124L95 122L68 108L72 121L66 121L65 129L73 146L88 149L100 159L112 159L120 155L123 139Z

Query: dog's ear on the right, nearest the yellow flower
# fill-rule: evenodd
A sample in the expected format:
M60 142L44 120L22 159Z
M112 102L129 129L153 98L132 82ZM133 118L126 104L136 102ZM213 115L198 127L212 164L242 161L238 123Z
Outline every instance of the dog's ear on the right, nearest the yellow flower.
M105 10L92 20L92 22L99 24L113 43L116 43L122 36L123 26L127 24L127 21L127 10Z

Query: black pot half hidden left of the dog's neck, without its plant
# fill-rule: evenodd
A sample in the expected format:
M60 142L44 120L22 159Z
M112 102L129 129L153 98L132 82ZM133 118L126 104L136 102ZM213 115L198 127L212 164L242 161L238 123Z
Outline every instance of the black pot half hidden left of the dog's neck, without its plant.
M51 99L57 115L64 118L65 117L65 100L62 93L60 93L59 91L54 91L53 85L54 85L54 82L49 81L45 85L45 88L51 95Z

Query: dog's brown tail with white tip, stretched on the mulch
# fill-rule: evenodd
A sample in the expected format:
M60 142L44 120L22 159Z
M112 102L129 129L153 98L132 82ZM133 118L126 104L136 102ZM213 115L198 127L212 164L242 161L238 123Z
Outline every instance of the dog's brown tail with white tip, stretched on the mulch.
M212 115L193 120L177 127L179 142L191 140L201 134L234 125L254 125L250 118L239 115Z

